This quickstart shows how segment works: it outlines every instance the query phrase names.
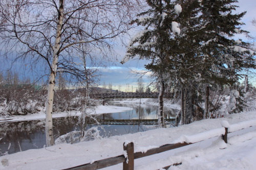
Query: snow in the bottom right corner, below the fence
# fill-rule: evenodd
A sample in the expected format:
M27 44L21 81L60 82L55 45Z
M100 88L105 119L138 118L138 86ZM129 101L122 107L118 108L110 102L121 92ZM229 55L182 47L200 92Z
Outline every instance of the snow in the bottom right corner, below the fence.
M228 145L226 149L219 149L218 145L212 145L205 150L188 152L177 155L181 165L172 166L177 169L255 169L256 138L245 142ZM171 157L172 158L172 157ZM170 159L170 158L169 158ZM177 158L176 158L177 159Z

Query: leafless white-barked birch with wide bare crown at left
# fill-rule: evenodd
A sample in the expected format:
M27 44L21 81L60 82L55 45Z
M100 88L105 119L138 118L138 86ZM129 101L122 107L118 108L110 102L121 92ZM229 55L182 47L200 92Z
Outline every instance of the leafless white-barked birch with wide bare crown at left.
M134 2L134 4L133 4ZM58 72L70 74L76 81L90 79L93 71L84 70L80 54L94 53L101 59L111 56L113 38L122 36L131 26L127 22L138 7L137 1L110 0L3 0L0 2L1 51L13 61L22 60L33 70L49 76L46 136L47 146L54 144L52 105ZM81 55L80 55L81 56ZM96 60L96 59L95 59ZM50 73L49 73L50 72Z

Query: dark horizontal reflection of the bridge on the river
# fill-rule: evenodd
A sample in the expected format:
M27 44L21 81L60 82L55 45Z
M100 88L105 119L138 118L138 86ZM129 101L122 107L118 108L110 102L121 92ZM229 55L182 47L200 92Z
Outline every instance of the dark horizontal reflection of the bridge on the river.
M93 122L101 125L158 125L158 119L97 119ZM175 124L175 118L166 118L165 122Z

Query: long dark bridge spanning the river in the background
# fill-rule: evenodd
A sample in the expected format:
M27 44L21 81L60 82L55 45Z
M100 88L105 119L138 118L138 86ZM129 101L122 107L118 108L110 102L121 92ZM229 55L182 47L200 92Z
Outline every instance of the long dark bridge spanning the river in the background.
M145 92L145 93L101 93L101 94L89 94L90 98L95 99L114 99L114 98L158 98L158 92ZM174 98L174 93L164 93L164 98Z

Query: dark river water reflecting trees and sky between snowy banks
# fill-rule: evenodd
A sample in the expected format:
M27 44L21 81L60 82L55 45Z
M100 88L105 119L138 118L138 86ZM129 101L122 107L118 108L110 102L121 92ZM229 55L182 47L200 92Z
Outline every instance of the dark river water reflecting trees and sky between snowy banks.
M104 114L105 119L153 119L157 118L157 106L136 106L130 104L111 104L115 106L132 107L133 110L120 113ZM166 118L173 118L176 110L165 108ZM103 118L103 115L95 116ZM3 123L0 124L0 156L5 153L12 154L26 151L29 149L43 148L46 144L45 121L32 120L25 122ZM67 134L72 131L82 129L80 117L61 117L53 119L54 138ZM136 133L150 130L152 126L143 125L84 125L83 128L89 129L97 127L102 137ZM9 148L9 150L8 150Z

